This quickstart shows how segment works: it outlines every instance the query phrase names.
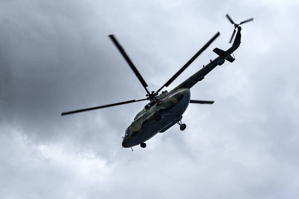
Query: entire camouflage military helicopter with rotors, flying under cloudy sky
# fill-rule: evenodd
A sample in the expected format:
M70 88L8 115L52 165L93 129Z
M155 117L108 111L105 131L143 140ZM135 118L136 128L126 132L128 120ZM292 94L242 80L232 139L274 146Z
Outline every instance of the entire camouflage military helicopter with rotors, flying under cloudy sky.
M83 111L95 110L105 107L111 107L121 104L133 103L143 100L149 100L144 108L137 113L131 125L126 129L125 135L123 136L122 146L124 148L131 148L136 145L140 145L142 148L146 148L147 144L145 143L158 132L163 133L172 127L175 124L179 125L180 130L186 129L186 124L182 123L182 115L187 109L189 103L200 103L200 104L213 104L214 101L207 100L190 100L190 89L198 82L202 81L204 77L211 72L216 66L221 66L225 61L232 63L235 61L235 58L231 56L231 54L239 48L241 44L241 24L252 21L253 18L247 19L245 21L240 22L239 24L235 23L229 14L226 14L228 20L234 25L233 34L229 40L229 43L232 42L233 37L236 33L236 37L232 46L226 51L221 50L219 48L215 48L213 52L215 52L218 57L214 60L210 60L210 63L207 65L203 65L203 67L194 73L191 77L186 79L184 82L179 84L177 87L167 92L162 91L164 88L168 87L219 35L217 32L179 71L177 71L161 88L157 91L151 91L147 89L148 85L138 72L137 68L126 54L123 47L120 45L118 40L114 35L109 35L112 42L115 44L119 52L123 55L140 83L146 90L146 98L141 100L129 100L118 103L112 103L107 105L101 105L91 108L78 109L68 112L62 112L62 115L78 113ZM133 151L133 149L132 149Z

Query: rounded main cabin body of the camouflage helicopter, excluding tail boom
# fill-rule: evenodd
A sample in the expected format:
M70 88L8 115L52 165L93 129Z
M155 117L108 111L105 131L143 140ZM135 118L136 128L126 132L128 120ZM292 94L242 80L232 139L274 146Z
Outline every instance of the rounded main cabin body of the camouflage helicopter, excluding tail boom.
M162 92L149 103L149 108L140 111L132 124L127 128L123 138L123 147L139 145L153 137L158 132L164 132L180 121L182 114L190 102L190 90L178 89L175 92ZM161 117L156 118L159 114Z

